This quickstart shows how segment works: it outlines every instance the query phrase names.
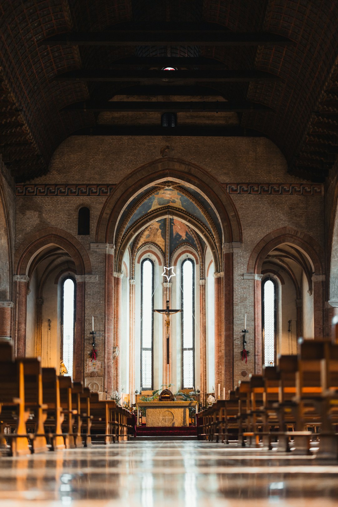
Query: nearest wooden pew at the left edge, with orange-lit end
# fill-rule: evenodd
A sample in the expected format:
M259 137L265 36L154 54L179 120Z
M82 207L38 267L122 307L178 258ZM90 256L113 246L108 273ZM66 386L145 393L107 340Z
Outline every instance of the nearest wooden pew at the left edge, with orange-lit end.
M29 412L25 410L24 370L22 363L12 361L13 350L9 343L0 343L0 447L7 449L10 442L11 454L30 454L26 421ZM11 426L15 432L4 433Z

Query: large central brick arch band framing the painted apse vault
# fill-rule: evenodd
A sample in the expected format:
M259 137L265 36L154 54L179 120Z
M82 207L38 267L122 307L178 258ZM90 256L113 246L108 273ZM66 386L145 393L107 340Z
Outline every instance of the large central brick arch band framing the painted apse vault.
M101 210L95 241L115 243L116 227L126 203L144 188L165 180L194 187L213 204L223 231L221 241L242 241L239 214L230 195L201 167L173 158L159 159L142 165L117 185Z

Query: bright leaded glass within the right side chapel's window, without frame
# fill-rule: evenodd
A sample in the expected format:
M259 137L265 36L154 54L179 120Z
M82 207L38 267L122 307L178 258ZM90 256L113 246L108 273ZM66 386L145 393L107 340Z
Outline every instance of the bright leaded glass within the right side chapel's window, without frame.
M264 364L275 363L275 284L264 284Z

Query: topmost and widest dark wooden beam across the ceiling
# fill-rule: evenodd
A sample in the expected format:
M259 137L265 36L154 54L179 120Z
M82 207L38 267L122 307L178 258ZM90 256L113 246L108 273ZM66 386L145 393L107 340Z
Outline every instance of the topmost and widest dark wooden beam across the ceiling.
M156 30L126 27L110 31L61 33L40 40L39 44L61 46L264 46L278 44L287 46L295 43L283 35L269 32L241 33L221 26L214 29L196 26L190 29L175 29L175 25L172 25L171 28L157 26Z

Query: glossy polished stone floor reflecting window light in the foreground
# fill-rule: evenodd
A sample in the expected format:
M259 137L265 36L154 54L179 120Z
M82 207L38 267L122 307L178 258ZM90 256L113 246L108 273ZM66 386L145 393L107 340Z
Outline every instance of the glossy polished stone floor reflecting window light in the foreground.
M0 506L338 505L338 461L198 441L138 440L0 457Z

